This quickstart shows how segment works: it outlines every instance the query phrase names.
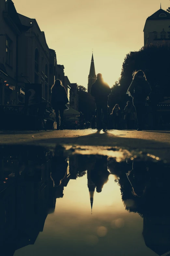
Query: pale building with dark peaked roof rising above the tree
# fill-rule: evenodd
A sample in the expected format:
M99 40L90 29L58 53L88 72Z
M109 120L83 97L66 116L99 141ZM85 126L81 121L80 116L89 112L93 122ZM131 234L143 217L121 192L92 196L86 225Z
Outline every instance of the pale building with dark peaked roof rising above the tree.
M144 46L170 43L170 13L159 9L149 16L144 27Z

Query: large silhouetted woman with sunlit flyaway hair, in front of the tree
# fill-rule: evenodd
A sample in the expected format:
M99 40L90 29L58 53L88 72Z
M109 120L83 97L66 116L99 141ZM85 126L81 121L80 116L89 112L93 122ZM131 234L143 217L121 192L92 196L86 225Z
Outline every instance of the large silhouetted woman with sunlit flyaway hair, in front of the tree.
M133 104L136 109L138 131L144 128L146 98L151 92L150 85L142 70L138 70L133 77L132 83L128 88L127 94L133 97Z

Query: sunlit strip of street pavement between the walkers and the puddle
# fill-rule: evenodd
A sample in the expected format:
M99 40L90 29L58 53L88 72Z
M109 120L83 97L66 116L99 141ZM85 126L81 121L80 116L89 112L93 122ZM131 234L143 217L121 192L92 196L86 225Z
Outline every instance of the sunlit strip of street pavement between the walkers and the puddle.
M104 154L116 157L150 157L169 162L170 131L136 130L49 130L0 131L0 145L63 147L71 153Z

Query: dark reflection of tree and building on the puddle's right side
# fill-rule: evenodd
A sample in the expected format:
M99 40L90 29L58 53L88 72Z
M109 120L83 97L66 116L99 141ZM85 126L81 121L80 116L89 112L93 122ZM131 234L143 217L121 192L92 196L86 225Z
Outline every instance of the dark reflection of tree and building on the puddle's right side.
M158 255L170 250L170 166L162 162L134 162L118 183L126 210L143 217L145 244Z

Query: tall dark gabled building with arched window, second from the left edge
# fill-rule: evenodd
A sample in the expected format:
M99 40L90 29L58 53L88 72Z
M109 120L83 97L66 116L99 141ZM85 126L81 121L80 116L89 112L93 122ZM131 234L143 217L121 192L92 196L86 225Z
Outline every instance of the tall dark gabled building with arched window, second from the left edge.
M19 14L21 23L30 26L19 40L19 82L42 84L42 97L49 101L49 47L35 19Z

